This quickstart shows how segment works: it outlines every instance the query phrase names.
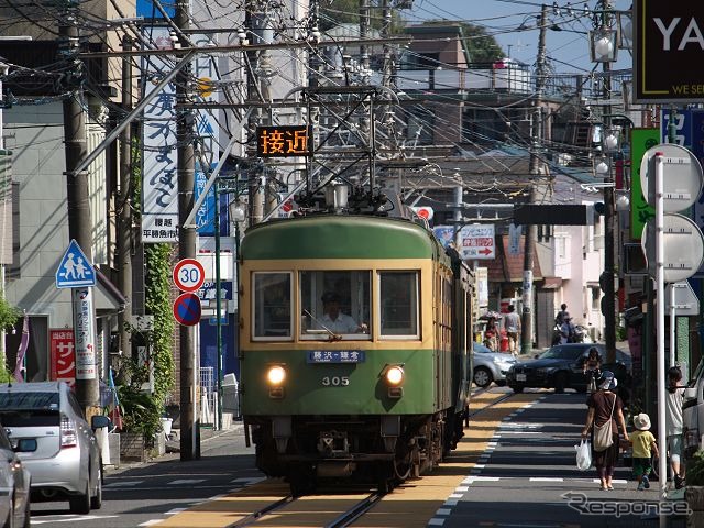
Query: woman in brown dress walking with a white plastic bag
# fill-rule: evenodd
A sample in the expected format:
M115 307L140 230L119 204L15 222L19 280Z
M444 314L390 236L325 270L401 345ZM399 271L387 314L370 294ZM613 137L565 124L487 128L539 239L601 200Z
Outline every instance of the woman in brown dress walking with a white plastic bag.
M586 402L590 410L582 430L582 438L586 438L592 431L592 460L598 473L601 490L614 490L612 480L614 477L614 466L618 461L618 428L623 431L624 439L626 441L629 440L623 413L624 404L614 392L617 384L618 382L613 372L602 372L602 377L597 382L598 391L592 394ZM608 425L609 421L610 426ZM603 439L603 432L608 428L610 428L610 444L608 441L604 442Z

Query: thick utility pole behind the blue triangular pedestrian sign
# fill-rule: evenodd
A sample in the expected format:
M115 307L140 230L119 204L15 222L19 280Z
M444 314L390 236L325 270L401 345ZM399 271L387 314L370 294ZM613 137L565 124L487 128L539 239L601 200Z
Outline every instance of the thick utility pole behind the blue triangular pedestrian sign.
M64 142L66 156L66 199L68 206L68 238L76 240L89 261L92 262L92 230L90 229L90 201L88 193L87 167L78 170L80 162L87 156L86 114L84 111L82 78L85 76L84 63L78 58L78 26L76 25L78 3L68 7L64 12L59 33L61 59L69 61L67 68L67 86L69 92L64 97ZM82 302L77 299L77 288L72 288L72 302L74 309L74 340L75 350L86 352L81 363L76 362L76 396L84 407L86 415L94 415L94 407L100 404L98 385L98 372L95 355L95 312L92 307L92 288L87 288L88 299L86 306L89 311L89 321L80 317L82 331L76 328ZM87 336L79 336L87 333ZM90 358L92 352L92 358ZM77 355L78 358L78 355Z

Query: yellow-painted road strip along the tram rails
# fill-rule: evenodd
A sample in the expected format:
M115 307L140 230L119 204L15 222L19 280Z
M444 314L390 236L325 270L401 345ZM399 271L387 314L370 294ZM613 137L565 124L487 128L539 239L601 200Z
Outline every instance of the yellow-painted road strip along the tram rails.
M408 481L385 496L354 525L364 528L425 528L443 503L462 483L480 455L486 450L503 418L535 402L539 393L516 394L484 409L505 394L481 393L473 396L464 438L449 460L431 474ZM482 410L483 409L483 410ZM239 493L195 506L151 526L160 528L227 528L254 512L279 501L288 494L288 485L268 480ZM369 494L312 495L295 501L256 522L262 527L312 528L324 526Z

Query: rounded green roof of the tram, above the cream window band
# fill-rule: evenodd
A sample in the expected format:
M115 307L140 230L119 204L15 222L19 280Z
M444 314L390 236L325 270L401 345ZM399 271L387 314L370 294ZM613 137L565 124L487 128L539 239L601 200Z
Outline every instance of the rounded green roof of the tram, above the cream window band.
M332 215L254 226L242 240L241 255L245 260L448 258L433 234L411 221Z

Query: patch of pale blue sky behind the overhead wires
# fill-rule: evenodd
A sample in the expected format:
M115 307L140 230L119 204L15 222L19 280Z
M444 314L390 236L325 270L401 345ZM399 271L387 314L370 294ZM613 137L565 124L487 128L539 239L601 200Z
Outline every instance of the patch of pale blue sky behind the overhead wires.
M494 35L504 52L516 61L532 65L538 53L538 31L517 31L521 26L536 26L542 3L549 6L548 18L554 28L562 31L548 31L546 47L548 56L557 73L575 73L591 70L594 63L590 59L586 32L593 29L593 14L584 15L584 8L592 12L597 0L539 2L530 0L414 0L414 8L403 11L403 16L410 22L422 20L462 20L482 25ZM558 9L553 9L553 4ZM612 0L615 10L630 9L632 0ZM572 11L568 8L571 8ZM630 68L631 56L628 51L618 51L618 62L613 66Z

